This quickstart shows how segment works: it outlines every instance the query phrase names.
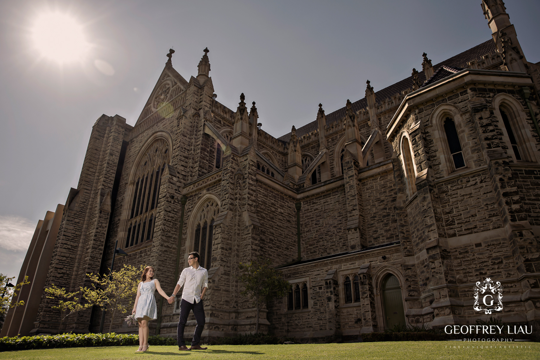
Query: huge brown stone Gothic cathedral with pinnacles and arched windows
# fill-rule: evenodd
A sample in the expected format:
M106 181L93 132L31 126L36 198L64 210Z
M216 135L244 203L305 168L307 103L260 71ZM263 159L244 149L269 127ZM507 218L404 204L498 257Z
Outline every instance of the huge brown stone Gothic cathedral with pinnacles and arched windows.
M278 336L475 324L489 317L474 309L486 278L504 289L495 317L539 334L540 63L525 59L501 0L481 5L486 42L436 65L424 53L419 71L378 91L367 81L365 98L328 114L314 99L314 121L280 137L262 130L249 94L219 103L208 49L189 80L171 50L134 126L93 124L77 188L37 224L18 277L31 281L26 304L0 336L58 332L43 289L87 286L116 246L128 255L115 269L151 265L169 294L200 253L207 338L254 331L238 263L259 256L292 284L260 313ZM176 337L180 296L159 298L151 334ZM123 317L113 331L136 333ZM101 318L82 311L62 331L97 332Z

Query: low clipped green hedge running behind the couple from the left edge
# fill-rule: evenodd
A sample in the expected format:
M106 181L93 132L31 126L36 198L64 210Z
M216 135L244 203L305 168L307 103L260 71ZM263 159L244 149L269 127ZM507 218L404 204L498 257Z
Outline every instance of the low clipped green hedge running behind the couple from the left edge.
M176 345L176 339L150 336L150 345ZM114 347L139 344L139 335L127 334L63 334L0 338L0 351L76 347Z

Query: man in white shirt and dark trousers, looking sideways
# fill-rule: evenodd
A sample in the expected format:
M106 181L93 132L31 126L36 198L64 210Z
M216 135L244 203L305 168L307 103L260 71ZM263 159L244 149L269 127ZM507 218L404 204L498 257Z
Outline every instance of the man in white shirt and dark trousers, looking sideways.
M187 257L187 262L190 264L190 267L182 271L180 279L178 279L178 283L173 290L173 294L168 298L168 303L172 304L174 297L178 294L180 288L184 286L182 301L180 302L180 318L178 319L178 350L206 350L208 348L201 348L199 342L205 324L202 300L208 288L208 271L199 266L198 252L190 253ZM184 327L186 326L187 317L190 315L191 310L193 310L193 315L195 315L197 327L195 327L191 348L188 349L184 341Z

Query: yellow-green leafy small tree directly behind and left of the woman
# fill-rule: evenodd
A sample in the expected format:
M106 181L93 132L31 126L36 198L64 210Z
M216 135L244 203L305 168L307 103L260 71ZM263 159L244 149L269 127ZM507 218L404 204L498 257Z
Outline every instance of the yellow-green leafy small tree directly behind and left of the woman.
M131 265L125 265L118 271L110 271L109 276L100 277L98 274L87 274L92 281L92 288L80 288L83 297L91 304L99 306L102 310L110 311L112 330L114 314L125 314L133 305L137 294L139 280L137 275L142 273L144 265L137 269Z

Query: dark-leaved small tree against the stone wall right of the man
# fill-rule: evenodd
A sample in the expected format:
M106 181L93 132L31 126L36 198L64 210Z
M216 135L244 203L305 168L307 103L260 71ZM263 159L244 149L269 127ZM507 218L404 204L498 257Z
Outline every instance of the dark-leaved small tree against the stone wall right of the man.
M244 286L240 293L249 296L257 309L257 325L255 332L259 332L259 313L262 307L276 297L285 296L291 284L283 279L281 271L272 268L272 260L259 258L249 263L240 263L241 271L238 280Z

